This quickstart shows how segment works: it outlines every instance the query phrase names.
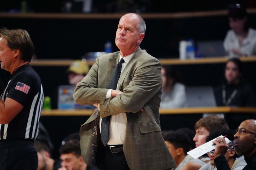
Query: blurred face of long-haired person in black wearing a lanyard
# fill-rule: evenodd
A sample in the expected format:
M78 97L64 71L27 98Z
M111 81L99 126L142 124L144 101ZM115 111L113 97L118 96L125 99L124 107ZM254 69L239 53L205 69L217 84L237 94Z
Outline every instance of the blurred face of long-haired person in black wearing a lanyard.
M225 67L225 78L227 82L229 84L236 83L237 81L239 81L239 74L240 73L236 64L232 61L229 61Z

